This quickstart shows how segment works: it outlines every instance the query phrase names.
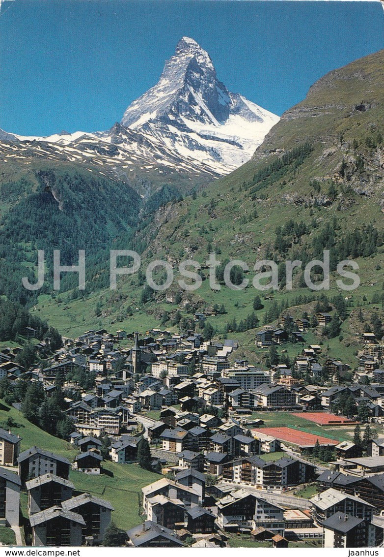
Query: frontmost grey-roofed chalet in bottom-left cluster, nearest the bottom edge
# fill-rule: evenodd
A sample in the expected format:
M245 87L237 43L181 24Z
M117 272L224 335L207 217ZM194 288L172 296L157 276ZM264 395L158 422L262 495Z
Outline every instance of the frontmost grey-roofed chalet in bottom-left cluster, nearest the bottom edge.
M76 512L54 506L30 516L29 522L34 546L82 545L82 529L86 524L83 517Z

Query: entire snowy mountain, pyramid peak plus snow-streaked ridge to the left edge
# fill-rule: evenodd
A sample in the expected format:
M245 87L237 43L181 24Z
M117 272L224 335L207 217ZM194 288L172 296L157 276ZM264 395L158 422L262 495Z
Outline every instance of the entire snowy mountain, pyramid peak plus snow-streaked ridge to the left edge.
M166 62L157 85L127 108L110 130L48 137L18 136L0 130L8 157L28 153L101 170L137 185L177 183L180 190L208 183L249 160L279 120L218 81L208 53L183 37Z

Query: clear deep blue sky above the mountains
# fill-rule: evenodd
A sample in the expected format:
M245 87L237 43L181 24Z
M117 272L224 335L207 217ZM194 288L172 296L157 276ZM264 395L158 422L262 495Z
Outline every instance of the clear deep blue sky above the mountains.
M110 128L183 35L218 78L281 114L327 71L384 48L375 2L15 0L0 17L0 128Z

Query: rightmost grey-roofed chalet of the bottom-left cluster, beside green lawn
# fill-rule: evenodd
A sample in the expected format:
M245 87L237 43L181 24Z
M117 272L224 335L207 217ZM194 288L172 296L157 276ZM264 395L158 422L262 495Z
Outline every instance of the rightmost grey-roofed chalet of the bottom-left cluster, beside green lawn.
M106 530L111 524L111 512L114 511L111 503L83 493L67 499L62 503L62 507L65 511L76 512L83 518L85 523L82 527L83 545L87 536L93 536L97 544L102 543Z

